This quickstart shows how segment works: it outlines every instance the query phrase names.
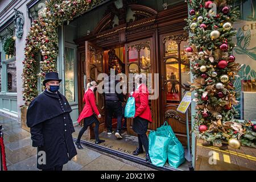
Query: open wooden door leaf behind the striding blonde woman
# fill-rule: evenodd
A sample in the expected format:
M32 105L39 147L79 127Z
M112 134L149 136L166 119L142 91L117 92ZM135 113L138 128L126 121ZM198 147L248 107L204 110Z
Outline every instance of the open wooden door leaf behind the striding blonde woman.
M86 41L85 42L85 86L90 81L101 81L97 80L97 77L100 73L105 73L105 61L104 61L104 49L95 46L94 44ZM95 92L96 96L96 105L100 111L101 118L100 121L99 133L105 130L105 99L103 94ZM94 126L90 127L89 138L94 138Z

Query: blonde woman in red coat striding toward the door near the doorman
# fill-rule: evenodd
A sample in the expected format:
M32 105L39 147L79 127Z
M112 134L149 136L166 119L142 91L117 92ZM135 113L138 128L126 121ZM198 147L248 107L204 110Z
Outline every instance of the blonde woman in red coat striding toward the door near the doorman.
M92 125L93 123L95 123L95 127L94 127L94 134L95 134L95 138L96 138L96 144L100 144L102 142L105 142L105 140L101 140L98 137L98 126L100 125L100 122L98 122L98 119L96 118L96 115L98 116L98 118L101 118L101 114L97 109L96 106L96 102L95 102L95 96L94 96L94 91L97 90L97 82L96 81L92 81L89 82L86 86L86 91L84 94L84 98L82 99L83 102L85 102L85 106L84 109L82 109L81 114L79 115L79 118L77 119L77 122L80 122L82 119L84 119L84 126L82 127L82 129L79 132L79 135L77 137L76 140L76 146L79 149L82 149L82 146L80 144L80 139L82 137L82 134L84 134L84 132L87 130L88 126ZM96 113L96 115L93 114Z

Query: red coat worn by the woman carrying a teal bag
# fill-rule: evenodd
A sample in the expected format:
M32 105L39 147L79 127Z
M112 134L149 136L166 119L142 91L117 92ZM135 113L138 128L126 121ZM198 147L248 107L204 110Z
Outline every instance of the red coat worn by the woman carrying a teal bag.
M139 86L133 93L133 97L135 98L134 118L139 116L152 122L152 115L148 105L148 95L147 86L144 84L141 84L141 86Z

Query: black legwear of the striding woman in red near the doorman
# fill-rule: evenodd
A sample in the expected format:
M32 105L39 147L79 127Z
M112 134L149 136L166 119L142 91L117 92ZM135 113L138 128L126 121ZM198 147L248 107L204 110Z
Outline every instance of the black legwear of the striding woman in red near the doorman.
M95 115L91 115L90 117L84 118L84 126L79 131L79 135L77 137L76 142L80 142L81 137L84 134L84 132L87 130L88 126L92 125L93 123L95 123L95 127L94 127L95 139L96 139L96 141L99 140L99 138L98 138L98 126L100 126L100 122L98 122L98 119L96 118Z

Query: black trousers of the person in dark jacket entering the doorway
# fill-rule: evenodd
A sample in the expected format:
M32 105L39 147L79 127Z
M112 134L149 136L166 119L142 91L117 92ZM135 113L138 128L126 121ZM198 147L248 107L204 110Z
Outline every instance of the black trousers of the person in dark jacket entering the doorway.
M117 117L117 130L122 129L122 105L119 101L106 101L108 130L112 130L112 115Z

